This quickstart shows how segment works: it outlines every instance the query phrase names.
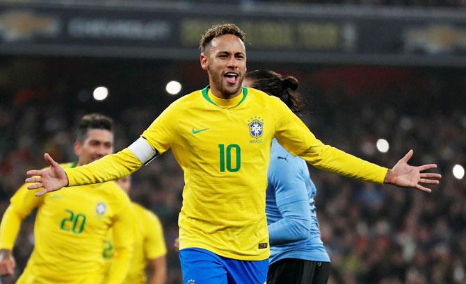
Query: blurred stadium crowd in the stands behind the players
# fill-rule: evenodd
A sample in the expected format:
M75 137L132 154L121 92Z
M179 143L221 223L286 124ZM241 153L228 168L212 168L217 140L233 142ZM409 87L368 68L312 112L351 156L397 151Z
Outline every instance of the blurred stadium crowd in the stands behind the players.
M424 194L311 169L322 239L332 260L330 284L466 283L466 185L451 174L454 164L466 165L466 74L447 71L351 67L291 71L301 81L298 90L307 97L309 112L303 120L323 142L385 166L414 149L413 165L437 162L443 175L442 184ZM351 81L344 80L348 74L354 75ZM40 89L30 92L36 93L33 99L17 92L0 101L0 216L24 181L26 169L45 166L42 153L51 153L60 162L74 159L73 129L86 113L65 107L61 99L45 99ZM115 150L135 140L164 107L140 106L128 98L121 110L106 112L117 125ZM387 153L375 147L380 137L389 142ZM170 284L181 283L177 251L171 244L177 237L182 187L182 172L168 153L137 172L131 190L131 198L163 222ZM32 247L29 218L15 248L17 273Z

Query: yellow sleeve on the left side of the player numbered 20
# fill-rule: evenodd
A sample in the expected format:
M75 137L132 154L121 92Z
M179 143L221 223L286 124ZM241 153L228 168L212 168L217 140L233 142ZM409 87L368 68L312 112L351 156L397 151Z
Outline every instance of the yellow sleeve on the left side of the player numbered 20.
M19 187L3 214L0 224L0 249L13 249L21 222L43 201L43 197L34 195L34 190L27 189L28 185L29 183L26 183Z

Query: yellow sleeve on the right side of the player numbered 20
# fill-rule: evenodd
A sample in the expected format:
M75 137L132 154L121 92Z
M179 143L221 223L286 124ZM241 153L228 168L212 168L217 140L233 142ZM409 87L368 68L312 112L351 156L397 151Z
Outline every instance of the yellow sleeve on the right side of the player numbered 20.
M122 193L122 192L121 192ZM122 193L123 194L123 193ZM126 278L129 269L129 260L134 247L134 212L131 209L129 198L120 199L120 212L115 216L112 225L113 258L109 269L109 278L106 283L120 284Z

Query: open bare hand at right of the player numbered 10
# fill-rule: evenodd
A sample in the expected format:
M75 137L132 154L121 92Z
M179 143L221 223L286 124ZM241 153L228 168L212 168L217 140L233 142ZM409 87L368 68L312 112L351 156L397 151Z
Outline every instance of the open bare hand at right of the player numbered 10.
M435 169L437 167L435 164L421 165L419 167L408 165L412 153L412 150L410 150L392 169L388 170L384 183L391 183L401 187L415 187L423 192L431 192L430 188L424 187L420 183L437 185L440 182L438 179L442 178L442 175L424 172L428 169Z

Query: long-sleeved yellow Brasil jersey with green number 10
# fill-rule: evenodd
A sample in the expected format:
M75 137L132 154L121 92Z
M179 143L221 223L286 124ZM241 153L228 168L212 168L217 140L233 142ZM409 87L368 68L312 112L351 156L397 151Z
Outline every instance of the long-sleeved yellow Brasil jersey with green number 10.
M172 149L184 171L179 248L207 249L238 260L269 256L265 192L273 137L319 169L373 183L383 183L387 173L323 144L280 99L252 88L233 99L218 99L208 87L188 94L141 137L158 153ZM70 185L134 172L142 165L135 149L66 170Z

